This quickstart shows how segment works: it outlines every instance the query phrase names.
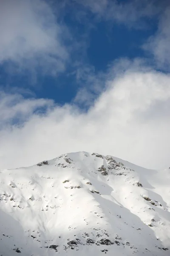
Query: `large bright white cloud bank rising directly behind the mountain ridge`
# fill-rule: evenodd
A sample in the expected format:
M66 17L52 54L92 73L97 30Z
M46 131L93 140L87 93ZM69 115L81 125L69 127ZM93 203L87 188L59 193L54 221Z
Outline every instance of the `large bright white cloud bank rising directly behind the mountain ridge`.
M130 70L106 84L108 89L87 113L71 105L59 107L18 96L11 99L11 108L6 104L9 96L4 96L1 111L8 122L0 131L0 168L28 166L83 150L145 167L169 167L170 76ZM44 105L49 106L45 114L35 112ZM27 118L22 125L9 124L19 109Z

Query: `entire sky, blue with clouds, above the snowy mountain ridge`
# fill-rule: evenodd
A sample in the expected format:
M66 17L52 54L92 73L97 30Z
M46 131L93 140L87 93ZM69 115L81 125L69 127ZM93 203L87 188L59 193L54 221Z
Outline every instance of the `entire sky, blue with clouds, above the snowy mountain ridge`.
M33 164L44 157L79 150L113 154L151 168L167 165L169 133L163 139L162 134L169 127L168 2L1 1L0 143L5 148L0 151L2 167L16 167L15 159L20 154L23 161L19 165L27 165L30 157ZM136 103L138 97L140 106ZM162 116L164 125L159 127ZM45 131L39 127L41 122L45 122L43 127L47 125ZM98 129L101 124L102 131ZM45 136L45 144L37 139L35 127ZM60 136L54 135L51 127ZM132 127L136 127L135 135ZM4 134L11 140L4 140ZM30 141L35 141L36 146ZM117 147L118 141L123 149ZM59 150L57 144L61 143ZM36 151L41 148L37 157L31 150L34 146ZM51 147L49 153L47 146ZM158 150L151 157L151 153L145 152L146 147L149 152L156 147ZM165 152L160 151L162 147ZM18 153L8 165L8 154L12 154L9 148L18 149ZM153 164L158 154L162 154L161 160ZM142 160L144 157L146 160Z

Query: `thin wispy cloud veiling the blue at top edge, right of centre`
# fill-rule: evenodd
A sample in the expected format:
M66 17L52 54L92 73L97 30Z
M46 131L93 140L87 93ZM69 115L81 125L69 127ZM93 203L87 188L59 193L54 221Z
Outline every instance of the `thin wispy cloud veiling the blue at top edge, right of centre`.
M160 3L159 0L75 0L75 2L86 7L100 19L113 20L118 23L124 23L126 26L144 28L144 20L142 19L159 14L164 6L166 6L164 2L167 1L165 0ZM140 23L141 20L142 23Z

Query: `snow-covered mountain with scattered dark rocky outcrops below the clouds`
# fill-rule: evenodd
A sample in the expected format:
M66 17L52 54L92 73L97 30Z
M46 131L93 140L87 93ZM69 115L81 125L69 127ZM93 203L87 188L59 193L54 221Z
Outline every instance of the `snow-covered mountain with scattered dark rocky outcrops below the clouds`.
M0 170L0 255L170 255L170 170L96 153Z

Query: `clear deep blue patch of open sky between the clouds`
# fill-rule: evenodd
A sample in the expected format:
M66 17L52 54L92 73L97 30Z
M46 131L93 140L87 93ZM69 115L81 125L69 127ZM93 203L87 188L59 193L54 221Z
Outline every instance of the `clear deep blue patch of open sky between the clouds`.
M128 1L119 1L119 4L126 2ZM56 103L63 105L73 101L77 91L83 86L84 81L77 81L76 78L79 66L88 66L94 70L94 75L97 75L99 72L107 72L108 66L118 58L148 57L142 45L156 32L156 16L139 20L139 27L136 24L129 26L126 22L96 18L96 14L85 6L74 1L68 3L59 17L62 26L70 33L63 43L66 49L70 48L70 61L66 63L65 70L55 76L43 73L39 66L36 67L35 73L34 70L24 70L22 67L19 71L17 67L11 71L14 67L10 66L15 63L7 60L1 64L1 86L8 87L8 90L16 85L29 88L36 98L54 99ZM54 5L54 8L61 7ZM83 17L75 17L77 12L84 12ZM57 21L57 15L55 18ZM74 48L74 43L78 47ZM27 97L29 96L28 94Z

